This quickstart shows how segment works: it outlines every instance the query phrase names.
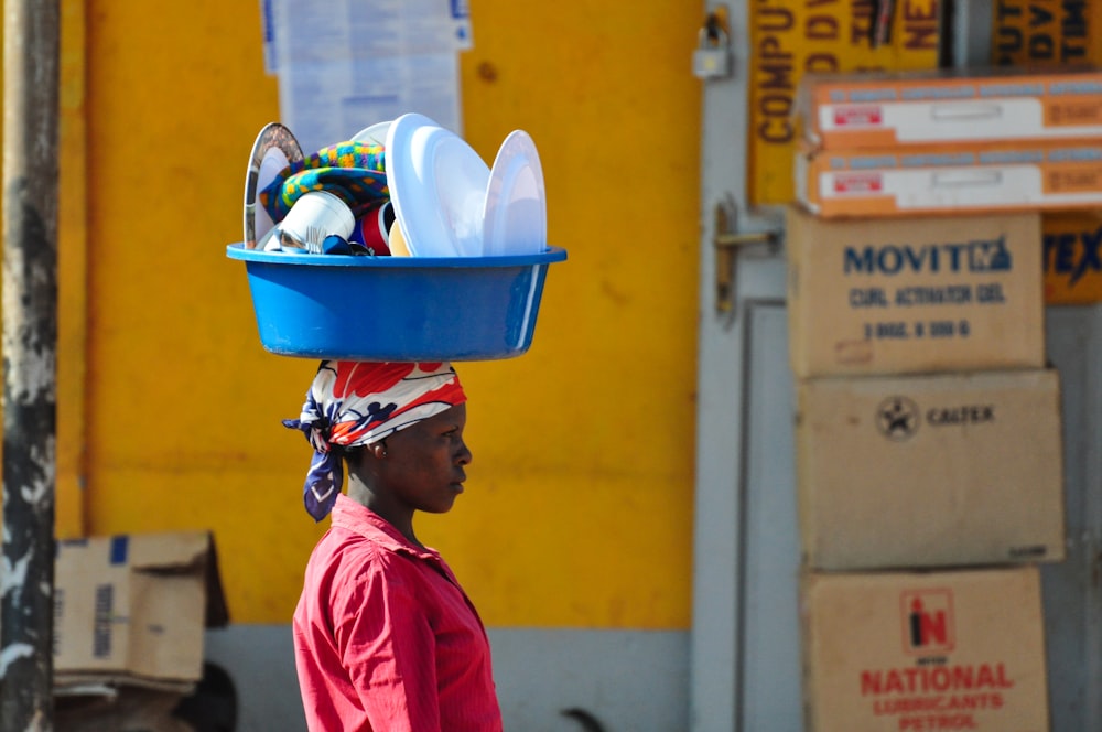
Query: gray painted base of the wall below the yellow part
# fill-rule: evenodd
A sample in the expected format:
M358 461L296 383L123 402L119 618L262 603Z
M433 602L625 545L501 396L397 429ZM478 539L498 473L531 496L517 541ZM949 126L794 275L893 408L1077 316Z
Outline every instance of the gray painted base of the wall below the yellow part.
M490 628L489 636L510 732L682 732L689 726L688 631ZM234 679L238 732L305 729L290 626L209 631L205 656Z

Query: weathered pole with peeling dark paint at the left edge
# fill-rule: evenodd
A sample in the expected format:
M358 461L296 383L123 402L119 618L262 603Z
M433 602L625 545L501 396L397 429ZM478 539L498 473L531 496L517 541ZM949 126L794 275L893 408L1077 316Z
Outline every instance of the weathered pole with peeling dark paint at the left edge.
M60 0L4 0L0 730L53 729Z

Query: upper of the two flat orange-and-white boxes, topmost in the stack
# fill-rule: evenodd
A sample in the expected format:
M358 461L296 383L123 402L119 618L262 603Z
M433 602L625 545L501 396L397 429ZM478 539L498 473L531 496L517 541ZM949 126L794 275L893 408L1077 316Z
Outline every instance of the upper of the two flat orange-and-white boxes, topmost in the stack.
M823 150L1102 137L1102 71L809 74L797 109Z

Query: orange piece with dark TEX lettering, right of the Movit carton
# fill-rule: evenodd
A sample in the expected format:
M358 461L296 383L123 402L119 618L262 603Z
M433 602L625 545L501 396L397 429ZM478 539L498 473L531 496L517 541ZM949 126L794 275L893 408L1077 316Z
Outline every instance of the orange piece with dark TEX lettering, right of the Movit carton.
M1102 302L1102 212L1047 214L1041 228L1045 302Z

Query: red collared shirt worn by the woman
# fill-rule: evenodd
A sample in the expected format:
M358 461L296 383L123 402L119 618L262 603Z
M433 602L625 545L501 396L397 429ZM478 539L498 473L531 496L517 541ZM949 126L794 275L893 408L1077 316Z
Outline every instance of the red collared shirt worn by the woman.
M501 730L489 640L452 570L343 494L293 632L311 732Z

